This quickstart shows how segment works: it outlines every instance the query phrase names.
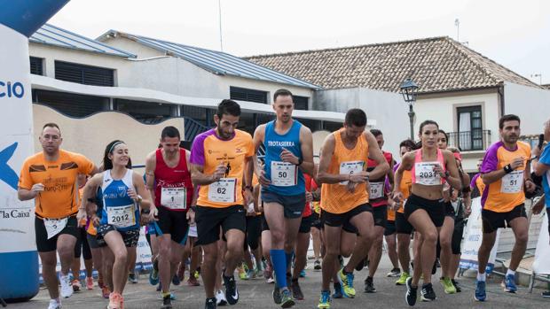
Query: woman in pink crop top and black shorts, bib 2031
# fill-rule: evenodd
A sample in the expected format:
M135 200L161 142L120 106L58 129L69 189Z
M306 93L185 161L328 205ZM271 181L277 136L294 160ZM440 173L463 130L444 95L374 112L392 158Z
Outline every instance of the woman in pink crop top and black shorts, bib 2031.
M405 204L407 219L421 237L420 251L414 257L413 277L407 279L405 299L408 305L416 303L420 274L423 275L421 289L422 301L436 299L431 283L431 270L436 260L436 244L445 220L445 205L442 202L443 184L448 182L453 188L460 189L457 165L450 151L437 148L439 126L432 120L420 124L421 148L407 152L396 172L396 183L403 179L405 171L411 171L411 195ZM400 187L394 189L394 199L404 200Z

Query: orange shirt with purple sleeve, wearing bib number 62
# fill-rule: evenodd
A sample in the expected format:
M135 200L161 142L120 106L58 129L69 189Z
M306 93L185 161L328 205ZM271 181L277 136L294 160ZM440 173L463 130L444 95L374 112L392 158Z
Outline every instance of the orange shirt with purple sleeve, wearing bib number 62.
M200 186L197 205L226 208L244 205L242 180L245 172L245 158L254 156L252 136L245 131L235 130L230 140L216 135L216 128L195 137L190 161L203 166L204 174L214 174L220 164L227 166L224 178L207 186Z

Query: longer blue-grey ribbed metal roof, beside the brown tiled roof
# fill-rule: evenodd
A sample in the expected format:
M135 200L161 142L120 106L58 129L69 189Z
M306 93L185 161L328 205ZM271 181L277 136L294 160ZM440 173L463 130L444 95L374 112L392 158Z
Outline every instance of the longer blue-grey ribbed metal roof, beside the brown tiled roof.
M310 82L302 81L264 66L258 66L255 63L230 55L223 51L207 50L176 42L153 39L141 35L130 35L128 33L122 33L115 30L109 30L106 34L99 36L98 40L104 41L108 35L122 35L123 37L144 44L145 46L155 50L161 50L170 56L183 58L193 63L195 66L199 66L218 75L232 75L254 80L279 82L282 84L306 87L310 89L319 88L317 85Z

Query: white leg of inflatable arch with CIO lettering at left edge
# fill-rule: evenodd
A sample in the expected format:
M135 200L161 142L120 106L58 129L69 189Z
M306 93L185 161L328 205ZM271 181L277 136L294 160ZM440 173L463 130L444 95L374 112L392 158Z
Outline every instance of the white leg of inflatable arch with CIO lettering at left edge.
M34 200L20 202L17 183L33 153L28 39L0 24L0 253L35 251Z

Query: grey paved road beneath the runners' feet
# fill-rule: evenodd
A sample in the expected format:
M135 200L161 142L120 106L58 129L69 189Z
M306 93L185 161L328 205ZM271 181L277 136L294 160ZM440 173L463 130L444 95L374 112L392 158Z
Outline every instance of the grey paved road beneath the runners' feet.
M389 272L389 261L385 256L382 258L381 270L374 278L374 284L378 290L375 294L362 292L363 280L366 271L356 272L356 289L358 296L355 299L336 299L332 307L335 309L350 308L409 308L405 304L405 287L396 286L395 278L386 278ZM460 278L463 291L456 295L445 295L439 283L435 284L437 299L433 303L418 303L420 308L550 308L550 300L540 297L540 290L529 294L526 288L521 288L517 294L508 294L502 291L498 279L492 279L488 284L488 301L476 303L474 296L474 280ZM320 290L320 273L307 270L307 276L301 279L305 300L298 302L295 308L317 308L318 293ZM239 304L232 306L238 309L255 308L278 308L271 299L272 284L265 283L263 279L250 281L239 281L240 290ZM202 287L188 287L185 285L173 289L177 300L173 302L174 308L203 308L204 290ZM153 287L146 282L145 275L140 277L138 284L130 284L124 291L125 308L160 308L161 297L153 290ZM45 309L48 307L49 297L46 290L41 290L39 295L27 303L10 304L7 309ZM99 290L85 290L75 293L72 297L63 301L64 309L92 309L105 308L106 299L99 296Z

